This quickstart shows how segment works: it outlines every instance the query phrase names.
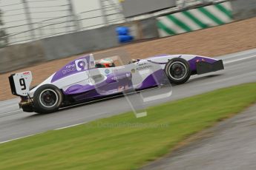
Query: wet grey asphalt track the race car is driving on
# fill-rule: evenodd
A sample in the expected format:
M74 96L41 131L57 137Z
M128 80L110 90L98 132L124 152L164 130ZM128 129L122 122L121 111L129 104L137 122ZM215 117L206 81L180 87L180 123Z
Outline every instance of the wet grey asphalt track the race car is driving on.
M172 86L170 97L145 102L143 106L154 106L158 103L174 101L226 86L256 81L256 49L223 55L219 58L223 59L224 71L207 75L193 75L186 84ZM151 89L142 92L142 95L158 95L166 89L166 87ZM132 96L131 98L133 98ZM22 112L19 109L18 102L19 98L0 102L0 143L46 132L47 130L61 129L99 118L107 118L131 110L130 104L124 97L87 103L47 115Z

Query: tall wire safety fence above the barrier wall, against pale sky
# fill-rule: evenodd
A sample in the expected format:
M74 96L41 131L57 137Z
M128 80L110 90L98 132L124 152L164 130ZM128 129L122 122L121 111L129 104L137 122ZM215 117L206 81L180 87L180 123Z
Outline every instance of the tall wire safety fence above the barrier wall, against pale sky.
M71 0L17 0L16 2L1 0L0 10L4 25L0 29L5 35L1 36L0 41L5 41L6 46L22 44L56 35L138 21L218 1L224 0L177 0L177 7L124 18L118 0L99 0L101 5L98 9L86 10L82 13L73 12Z

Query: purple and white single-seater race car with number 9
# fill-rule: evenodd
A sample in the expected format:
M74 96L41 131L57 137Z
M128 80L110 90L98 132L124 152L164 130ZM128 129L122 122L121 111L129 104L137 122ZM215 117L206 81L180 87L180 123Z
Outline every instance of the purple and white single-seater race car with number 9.
M30 89L30 71L10 75L13 95L21 97L24 112L49 113L76 103L170 84L184 84L191 75L224 69L223 61L198 55L157 55L115 67L99 67L84 55Z

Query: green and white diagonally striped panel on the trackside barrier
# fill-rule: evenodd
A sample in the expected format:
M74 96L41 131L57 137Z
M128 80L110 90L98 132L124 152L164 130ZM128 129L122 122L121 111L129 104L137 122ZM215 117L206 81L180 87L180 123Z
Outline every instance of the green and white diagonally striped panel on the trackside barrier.
M233 21L232 7L227 1L158 17L157 27L160 37L165 37L214 27L231 21Z

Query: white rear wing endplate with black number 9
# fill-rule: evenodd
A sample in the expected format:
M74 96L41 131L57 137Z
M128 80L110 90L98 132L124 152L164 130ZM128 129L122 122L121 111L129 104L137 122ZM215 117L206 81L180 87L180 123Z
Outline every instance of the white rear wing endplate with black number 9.
M9 76L10 89L13 95L27 96L30 92L32 73L30 71L14 73Z

